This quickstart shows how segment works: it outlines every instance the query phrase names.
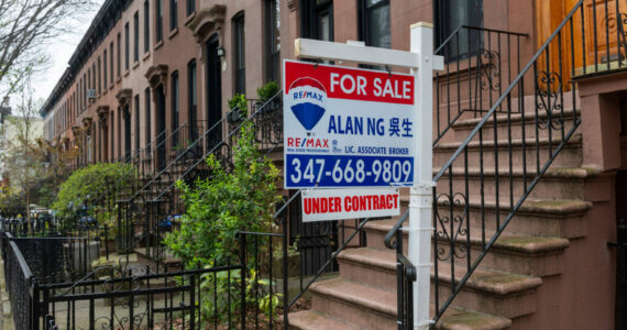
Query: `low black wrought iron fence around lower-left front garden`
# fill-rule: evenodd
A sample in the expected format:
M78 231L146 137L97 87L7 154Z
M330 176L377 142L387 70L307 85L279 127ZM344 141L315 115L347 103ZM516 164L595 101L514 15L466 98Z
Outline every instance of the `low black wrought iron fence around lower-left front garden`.
M279 233L240 232L222 264L151 270L128 257L73 282L42 282L8 238L8 288L16 329L286 329L287 251ZM26 242L26 241L25 241ZM32 241L28 241L32 243ZM24 257L23 255L26 255Z

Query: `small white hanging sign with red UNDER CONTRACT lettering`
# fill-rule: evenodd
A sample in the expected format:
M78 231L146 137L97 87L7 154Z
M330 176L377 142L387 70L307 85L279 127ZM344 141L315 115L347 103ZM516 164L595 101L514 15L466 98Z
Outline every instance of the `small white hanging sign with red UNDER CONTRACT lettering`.
M302 222L400 213L398 188L304 190L301 204Z

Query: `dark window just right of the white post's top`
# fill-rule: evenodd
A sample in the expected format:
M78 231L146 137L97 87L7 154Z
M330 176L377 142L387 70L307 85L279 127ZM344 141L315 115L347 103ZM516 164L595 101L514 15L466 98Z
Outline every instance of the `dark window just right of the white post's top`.
M436 45L440 45L462 25L483 26L483 0L437 0L435 15ZM482 43L479 31L462 30L459 38L459 43L451 42L442 50L441 55L447 62L464 59L479 53Z

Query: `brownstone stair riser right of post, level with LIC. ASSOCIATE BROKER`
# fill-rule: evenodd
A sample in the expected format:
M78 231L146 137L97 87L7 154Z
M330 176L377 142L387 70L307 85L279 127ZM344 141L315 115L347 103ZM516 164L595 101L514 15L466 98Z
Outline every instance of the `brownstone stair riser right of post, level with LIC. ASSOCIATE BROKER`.
M554 147L553 145L553 151ZM537 169L537 153L536 153L535 145L527 145L525 153L522 153L522 147L516 146L512 148L512 164L518 167L522 167L522 164L527 164L528 170L536 170ZM433 168L439 170L454 154L455 150L442 150L442 148L435 148L433 150ZM524 160L524 155L526 158ZM468 151L469 157L469 168L479 168L480 167L480 160L483 157L483 168L484 170L494 170L494 146L484 146L483 148L483 156L480 153L479 148L470 148ZM498 148L498 168L509 168L509 151L507 147ZM544 163L549 160L549 150L548 146L541 146L540 148L540 168L544 165ZM525 162L522 162L525 161ZM580 147L575 147L573 145L569 145L564 147L560 154L553 160L551 164L552 167L578 167L582 164L582 150ZM464 168L464 153L462 152L453 163L454 169L463 169Z

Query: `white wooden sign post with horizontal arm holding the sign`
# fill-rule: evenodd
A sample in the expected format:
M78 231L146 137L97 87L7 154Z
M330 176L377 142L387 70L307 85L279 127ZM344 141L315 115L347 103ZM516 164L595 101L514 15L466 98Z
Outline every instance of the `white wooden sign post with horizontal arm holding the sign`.
M431 204L432 204L432 72L443 69L443 58L433 55L433 25L410 26L410 52L366 47L363 43L340 44L315 40L296 40L296 56L326 61L348 61L370 65L410 68L414 76L414 102L417 134L409 197L409 261L417 268L414 284L414 329L428 329ZM382 110L385 111L385 110ZM286 164L287 165L287 164Z

